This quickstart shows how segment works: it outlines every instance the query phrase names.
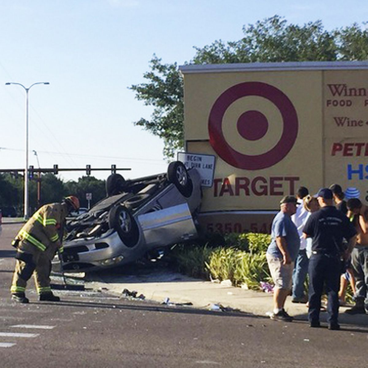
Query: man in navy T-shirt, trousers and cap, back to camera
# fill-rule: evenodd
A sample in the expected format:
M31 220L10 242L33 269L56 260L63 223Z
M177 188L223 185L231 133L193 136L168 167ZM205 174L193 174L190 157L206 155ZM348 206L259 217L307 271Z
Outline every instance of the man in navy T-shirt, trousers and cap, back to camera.
M347 216L333 206L332 191L319 190L317 199L320 210L313 212L304 226L304 237L312 238L312 256L309 259L309 326L319 327L319 311L323 284L326 282L328 295L328 328L340 329L339 284L341 256L347 259L355 245L357 231ZM348 249L343 250L343 238L348 241Z

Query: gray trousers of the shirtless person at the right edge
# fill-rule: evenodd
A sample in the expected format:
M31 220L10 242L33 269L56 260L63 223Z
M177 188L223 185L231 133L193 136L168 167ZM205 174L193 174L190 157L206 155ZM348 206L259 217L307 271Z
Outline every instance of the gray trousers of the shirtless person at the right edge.
M355 277L355 299L364 300L368 310L368 247L355 247L351 252L351 265Z

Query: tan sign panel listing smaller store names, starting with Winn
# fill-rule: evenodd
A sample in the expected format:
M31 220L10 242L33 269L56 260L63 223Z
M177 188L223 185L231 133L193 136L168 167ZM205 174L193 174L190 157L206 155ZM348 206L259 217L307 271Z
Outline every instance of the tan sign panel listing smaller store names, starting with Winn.
M368 71L323 73L324 183L367 204Z

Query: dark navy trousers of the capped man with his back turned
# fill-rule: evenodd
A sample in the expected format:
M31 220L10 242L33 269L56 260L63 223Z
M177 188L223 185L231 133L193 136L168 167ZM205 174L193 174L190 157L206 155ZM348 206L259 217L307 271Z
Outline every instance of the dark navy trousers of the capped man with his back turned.
M309 322L319 321L323 284L326 283L328 296L327 313L328 323L337 323L339 315L339 288L340 288L341 261L337 256L312 254L309 258Z

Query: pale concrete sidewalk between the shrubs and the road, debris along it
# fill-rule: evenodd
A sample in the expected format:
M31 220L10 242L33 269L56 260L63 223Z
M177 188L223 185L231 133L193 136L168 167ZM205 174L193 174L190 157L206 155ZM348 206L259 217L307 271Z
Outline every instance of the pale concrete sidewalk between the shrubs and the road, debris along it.
M123 290L128 289L157 302L169 298L169 302L174 304L190 302L193 307L201 309L211 309L214 307L213 304L217 304L259 316L266 316L273 308L272 294L245 290L226 283L193 279L167 270L134 276L102 275L99 278L100 280L87 281L86 287L106 288L117 295L122 295ZM288 297L285 309L294 318L307 321L308 308L305 304L292 303L291 297ZM368 315L348 315L344 313L346 309L347 307L340 307L340 323L368 326ZM322 323L326 318L326 312L321 312Z

